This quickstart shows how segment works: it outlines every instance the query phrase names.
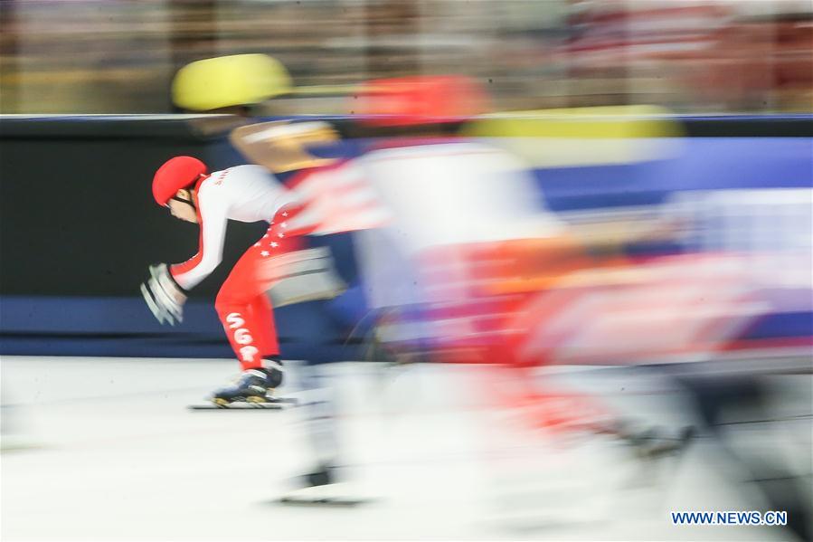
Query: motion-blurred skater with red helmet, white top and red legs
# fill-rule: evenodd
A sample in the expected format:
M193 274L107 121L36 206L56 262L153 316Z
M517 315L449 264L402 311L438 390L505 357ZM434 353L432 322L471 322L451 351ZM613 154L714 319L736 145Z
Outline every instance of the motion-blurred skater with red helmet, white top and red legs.
M369 83L360 102L369 124L399 134L356 161L390 214L384 227L360 234L379 352L487 366L483 396L497 401L492 406L521 407L534 425L638 442L640 428L594 399L544 390L529 374L564 361L550 352L566 330L550 324L566 306L561 300L545 306L541 297L569 295L563 284L589 288L600 281L591 272L618 273L622 262L602 255L601 245L582 242L547 211L519 160L455 135L461 123L485 112L485 93L465 78L403 78ZM572 325L588 319L582 315ZM657 442L658 452L684 441L685 434L669 435Z

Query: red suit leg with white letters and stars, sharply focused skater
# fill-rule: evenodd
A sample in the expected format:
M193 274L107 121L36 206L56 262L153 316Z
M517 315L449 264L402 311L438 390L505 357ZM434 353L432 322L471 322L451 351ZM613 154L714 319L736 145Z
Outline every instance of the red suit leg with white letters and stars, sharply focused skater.
M279 210L265 235L234 265L214 301L226 337L243 370L262 366L263 357L279 356L274 312L266 296L273 281L263 278L268 273L260 269L275 256L302 248L300 235L307 232L288 233L286 224L286 218L300 210L292 207Z

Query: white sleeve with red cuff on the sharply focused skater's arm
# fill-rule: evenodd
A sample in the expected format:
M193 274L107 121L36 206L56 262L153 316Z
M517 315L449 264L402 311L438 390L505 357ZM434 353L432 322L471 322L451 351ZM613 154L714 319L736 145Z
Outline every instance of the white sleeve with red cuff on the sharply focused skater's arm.
M198 223L201 228L198 252L184 263L170 268L175 282L191 290L220 265L226 236L228 204L214 194L198 195Z

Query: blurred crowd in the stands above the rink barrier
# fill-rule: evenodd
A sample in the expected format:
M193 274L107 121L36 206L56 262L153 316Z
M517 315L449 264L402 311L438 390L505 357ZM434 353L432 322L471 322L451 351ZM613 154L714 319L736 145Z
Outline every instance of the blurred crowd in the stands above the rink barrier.
M171 112L187 62L262 52L291 113L373 78L460 73L496 109L809 111L807 0L5 0L2 113Z

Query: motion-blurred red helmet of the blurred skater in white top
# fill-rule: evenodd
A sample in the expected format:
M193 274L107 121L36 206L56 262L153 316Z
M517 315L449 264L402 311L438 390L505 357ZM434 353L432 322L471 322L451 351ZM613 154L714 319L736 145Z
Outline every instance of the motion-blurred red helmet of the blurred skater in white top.
M487 110L480 84L462 75L418 75L368 81L355 112L375 126L465 120Z

